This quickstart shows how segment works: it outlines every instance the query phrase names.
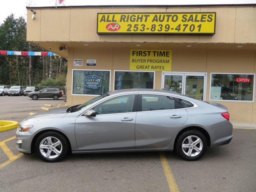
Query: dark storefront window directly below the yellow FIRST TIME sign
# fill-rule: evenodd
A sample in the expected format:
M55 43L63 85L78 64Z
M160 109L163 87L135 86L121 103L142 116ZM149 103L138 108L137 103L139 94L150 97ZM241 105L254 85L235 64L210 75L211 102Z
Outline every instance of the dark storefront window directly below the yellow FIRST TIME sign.
M154 88L154 72L115 71L115 90Z

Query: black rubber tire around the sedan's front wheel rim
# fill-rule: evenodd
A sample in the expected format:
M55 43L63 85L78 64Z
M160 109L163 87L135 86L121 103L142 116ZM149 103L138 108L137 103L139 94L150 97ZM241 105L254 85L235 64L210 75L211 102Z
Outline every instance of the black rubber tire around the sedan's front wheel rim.
M44 140L44 138L46 137L55 137L58 140L60 140L61 144L62 144L62 151L59 154L59 156L57 156L56 158L47 158L45 156L42 155L42 153L40 152L40 142L42 140ZM62 158L64 158L64 156L66 156L67 152L68 152L69 146L68 146L68 141L66 140L66 138L58 133L58 132L54 132L54 131L50 131L50 132L44 132L42 133L40 136L38 136L38 138L36 139L35 142L35 152L36 154L40 157L40 159L42 159L43 161L46 162L58 162L60 160L62 160ZM54 155L54 151L51 152L51 154Z

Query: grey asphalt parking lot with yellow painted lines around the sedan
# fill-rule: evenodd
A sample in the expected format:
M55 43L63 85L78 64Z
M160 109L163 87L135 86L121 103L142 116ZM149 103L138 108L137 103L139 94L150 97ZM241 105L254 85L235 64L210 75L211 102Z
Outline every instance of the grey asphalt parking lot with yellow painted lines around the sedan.
M30 112L64 99L0 97L0 120L20 122ZM172 152L68 155L42 162L16 150L16 130L0 132L0 191L77 192L252 192L256 188L256 130L234 129L230 144L210 148L203 158L186 162Z

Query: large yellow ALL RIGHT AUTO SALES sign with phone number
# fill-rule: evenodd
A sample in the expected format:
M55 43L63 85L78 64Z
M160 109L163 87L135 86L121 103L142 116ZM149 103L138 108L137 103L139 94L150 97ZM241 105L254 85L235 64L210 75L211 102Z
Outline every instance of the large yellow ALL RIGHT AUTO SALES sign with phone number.
M98 13L97 34L214 35L216 12Z

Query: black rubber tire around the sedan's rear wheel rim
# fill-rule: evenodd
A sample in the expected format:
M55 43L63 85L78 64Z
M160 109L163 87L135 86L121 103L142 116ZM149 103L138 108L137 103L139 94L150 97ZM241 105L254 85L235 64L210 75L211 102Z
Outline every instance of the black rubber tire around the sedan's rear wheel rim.
M188 152L188 150L192 150L191 152L191 155L194 155L194 156L188 156L187 154L185 154L185 152L182 150L182 142L183 141L188 141L188 140L185 140L188 136L196 136L198 138L200 138L200 140L202 141L202 150L200 151L199 154L195 155L196 154L196 150L194 150L193 148L194 147L198 147L199 145L201 145L201 143L198 143L197 145L193 146L193 144L190 146L189 143L189 146L188 148L184 148L184 151L185 152ZM193 140L194 141L194 140ZM200 159L204 153L206 152L206 149L207 149L207 140L204 136L204 134L202 134L202 132L198 131L198 130L188 130L184 133L182 133L177 142L176 142L176 146L175 146L175 151L176 153L181 157L183 158L184 160L186 161L195 161L195 160L198 160Z

